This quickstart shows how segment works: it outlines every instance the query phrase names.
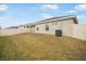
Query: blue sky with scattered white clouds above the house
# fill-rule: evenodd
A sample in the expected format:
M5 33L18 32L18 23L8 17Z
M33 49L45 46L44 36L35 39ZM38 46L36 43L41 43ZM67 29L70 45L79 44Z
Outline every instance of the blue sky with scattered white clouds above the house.
M65 15L76 15L79 24L86 24L86 4L0 3L0 26L2 28Z

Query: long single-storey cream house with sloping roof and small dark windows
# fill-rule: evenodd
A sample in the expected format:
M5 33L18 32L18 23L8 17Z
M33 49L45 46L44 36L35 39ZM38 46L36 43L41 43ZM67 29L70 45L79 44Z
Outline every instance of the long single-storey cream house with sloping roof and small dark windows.
M32 34L48 34L48 35L73 35L71 24L78 24L75 15L52 17L39 22L35 22L32 25L27 24L29 33ZM69 25L69 26L67 26ZM66 28L69 27L69 29Z

